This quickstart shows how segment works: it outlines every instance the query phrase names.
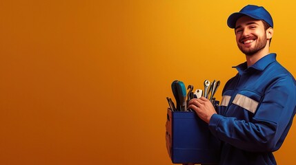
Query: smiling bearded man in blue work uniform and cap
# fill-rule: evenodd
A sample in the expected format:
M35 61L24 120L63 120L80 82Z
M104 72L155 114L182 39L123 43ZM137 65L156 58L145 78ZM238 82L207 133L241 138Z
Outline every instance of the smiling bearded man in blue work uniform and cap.
M221 160L227 165L277 164L273 151L284 142L295 115L295 79L270 54L273 19L263 7L246 5L228 17L246 63L235 67L219 111L206 98L193 99L189 109L208 123L221 140Z

